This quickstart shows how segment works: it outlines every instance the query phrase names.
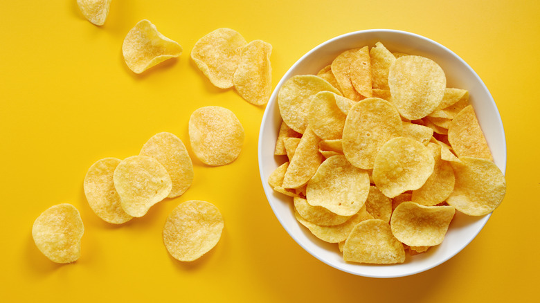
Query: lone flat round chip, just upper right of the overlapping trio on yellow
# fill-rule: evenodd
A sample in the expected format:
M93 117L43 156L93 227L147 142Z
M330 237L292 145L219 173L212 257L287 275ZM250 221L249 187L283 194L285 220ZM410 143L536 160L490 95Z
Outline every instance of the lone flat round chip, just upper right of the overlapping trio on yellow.
M244 128L224 107L196 109L189 122L190 143L195 156L212 166L232 163L242 152Z

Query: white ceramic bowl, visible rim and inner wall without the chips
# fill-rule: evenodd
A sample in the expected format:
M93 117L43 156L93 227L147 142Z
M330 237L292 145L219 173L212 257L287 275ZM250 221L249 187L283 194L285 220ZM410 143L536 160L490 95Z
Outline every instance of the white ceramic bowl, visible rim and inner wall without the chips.
M505 172L506 141L503 122L496 104L485 84L473 69L448 48L430 39L399 30L361 30L330 39L316 46L301 57L282 77L273 91L262 118L259 134L259 169L264 192L273 212L289 235L311 255L339 270L366 277L402 277L428 270L447 261L469 244L490 217L469 217L459 212L439 246L416 256L407 256L404 264L366 265L343 261L337 244L327 244L314 237L294 218L292 199L274 192L268 185L273 169L285 161L285 156L274 156L281 116L278 109L278 91L282 84L294 75L316 74L321 68L350 48L375 46L381 42L390 51L422 55L437 62L447 75L447 86L467 89L470 102L478 116L487 143L499 168ZM487 248L486 248L487 249Z

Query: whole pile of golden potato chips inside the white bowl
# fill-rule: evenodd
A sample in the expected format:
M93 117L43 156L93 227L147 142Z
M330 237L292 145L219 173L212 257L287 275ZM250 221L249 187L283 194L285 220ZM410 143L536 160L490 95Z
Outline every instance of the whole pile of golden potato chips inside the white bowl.
M456 210L492 212L506 184L469 93L433 60L377 42L345 50L278 93L282 124L269 176L296 219L345 261L397 264L444 240Z

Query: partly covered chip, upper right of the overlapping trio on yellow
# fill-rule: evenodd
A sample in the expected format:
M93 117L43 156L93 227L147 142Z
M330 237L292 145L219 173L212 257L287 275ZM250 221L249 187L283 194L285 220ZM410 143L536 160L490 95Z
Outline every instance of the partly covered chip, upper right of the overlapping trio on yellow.
M193 164L186 146L174 134L163 132L152 136L139 155L152 157L167 169L172 181L168 198L180 196L191 186Z

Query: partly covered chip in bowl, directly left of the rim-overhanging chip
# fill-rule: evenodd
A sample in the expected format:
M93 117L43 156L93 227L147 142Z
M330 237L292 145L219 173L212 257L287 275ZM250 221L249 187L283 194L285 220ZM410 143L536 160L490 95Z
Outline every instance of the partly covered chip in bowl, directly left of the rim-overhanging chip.
M450 196L456 178L453 175L452 165L442 160L442 146L429 143L427 145L429 152L435 159L433 174L429 176L426 183L417 190L413 190L412 201L426 206L437 205Z

